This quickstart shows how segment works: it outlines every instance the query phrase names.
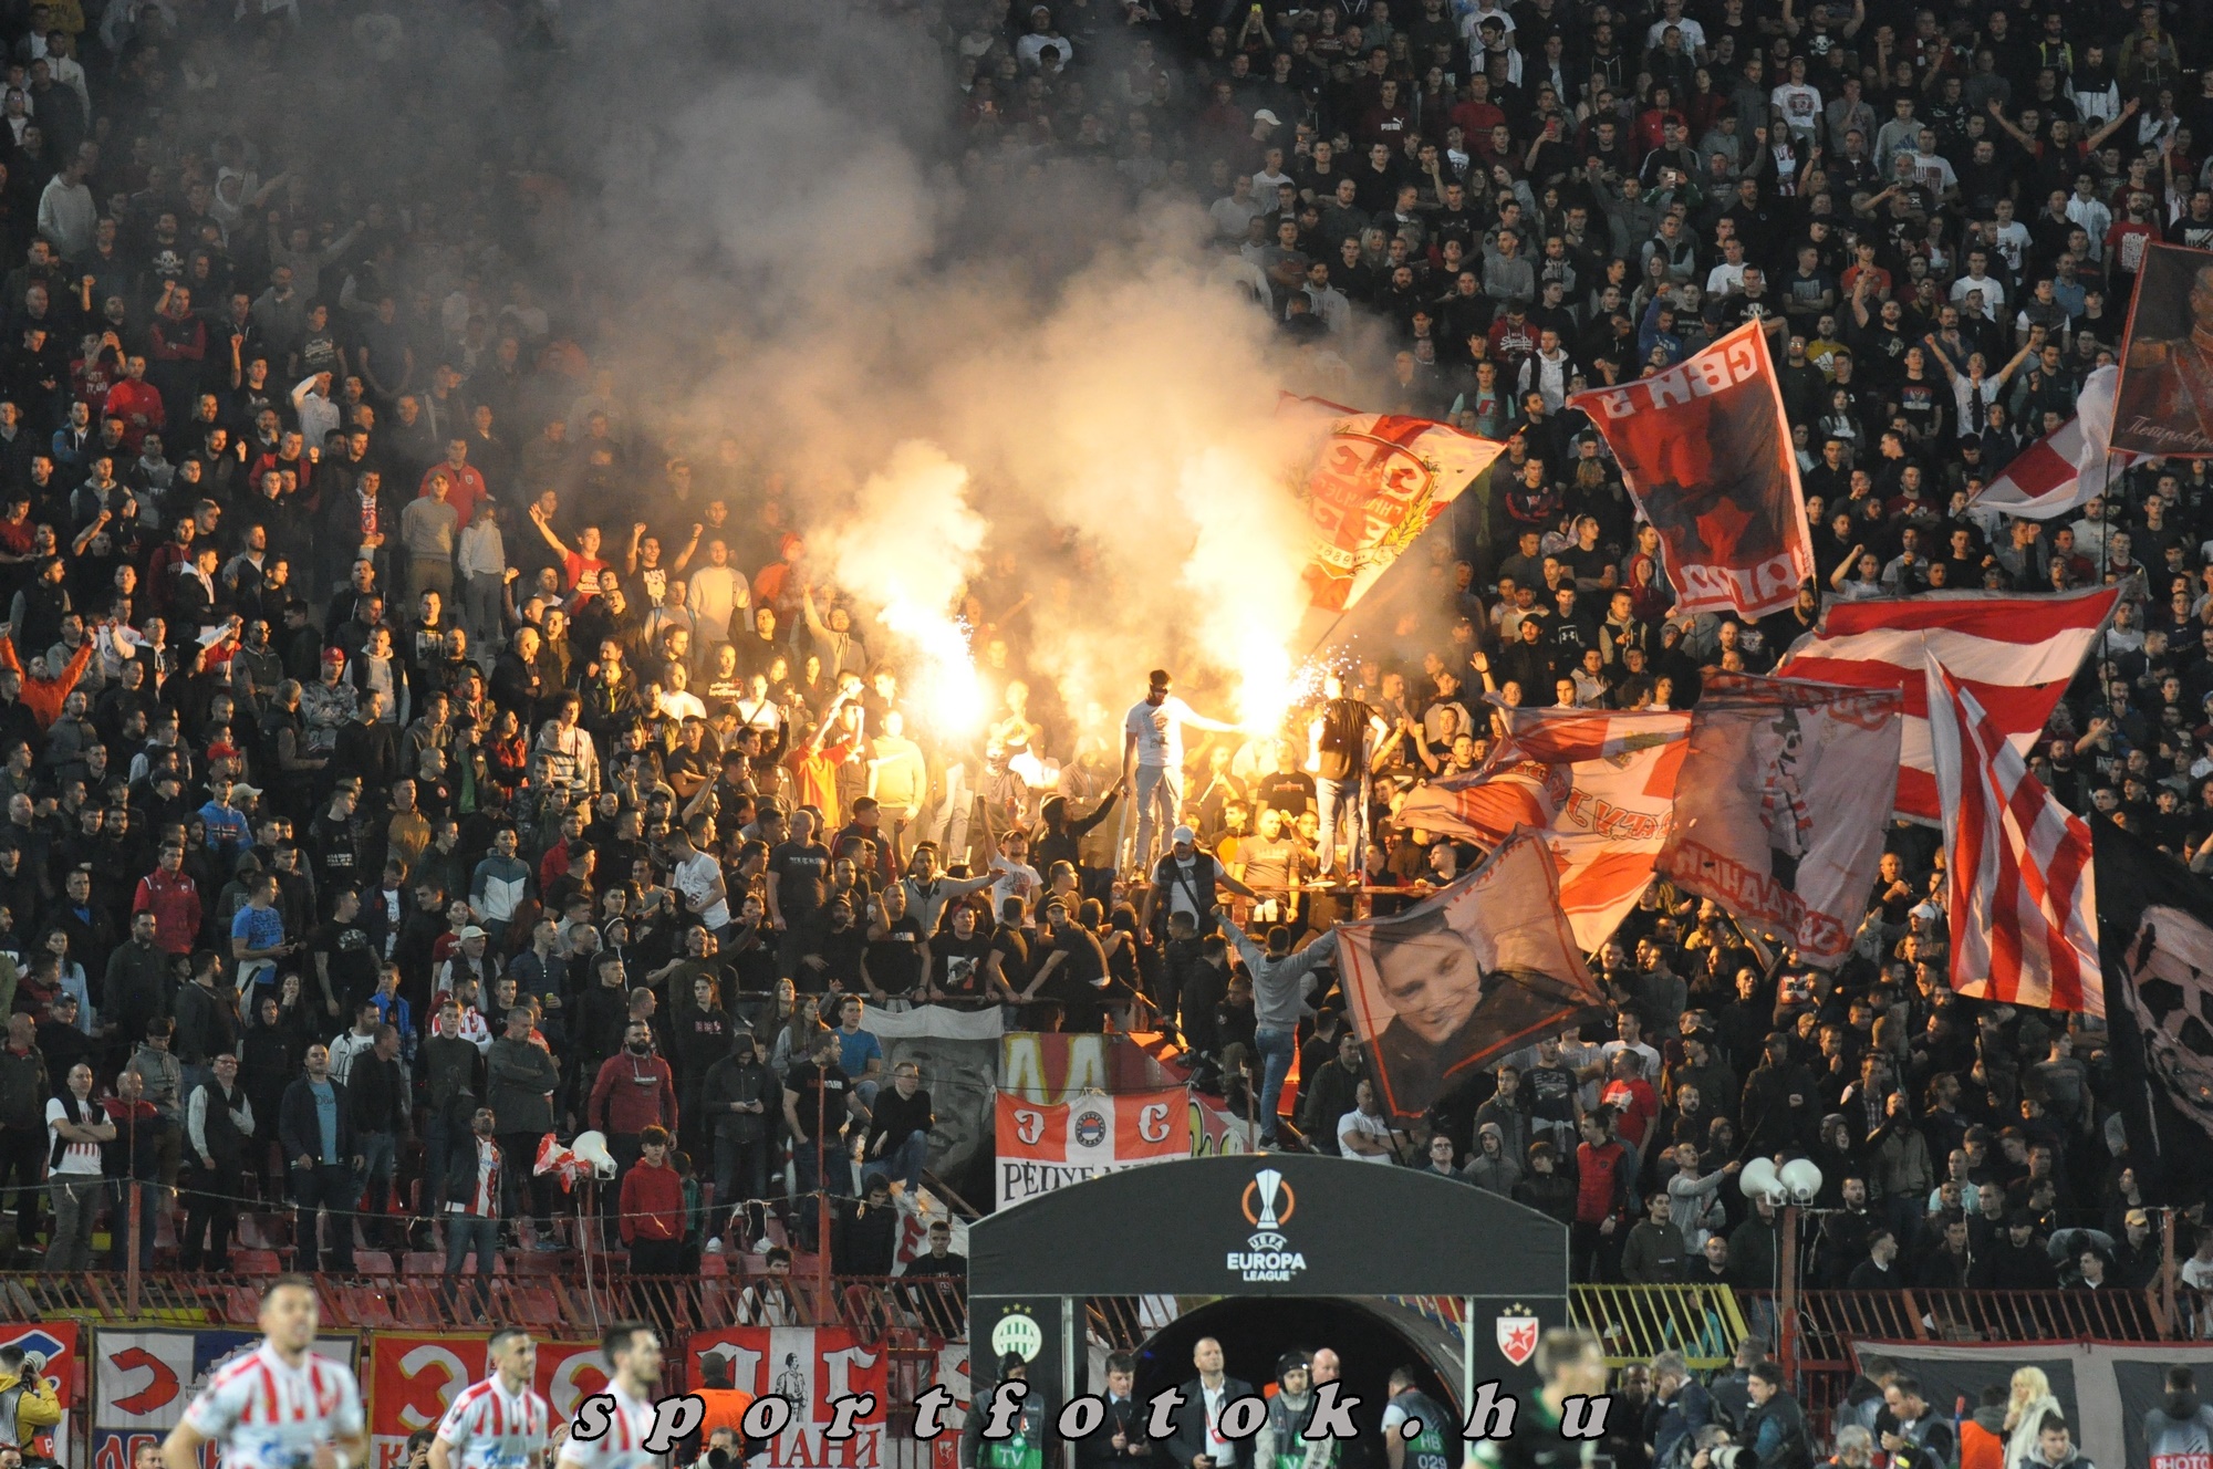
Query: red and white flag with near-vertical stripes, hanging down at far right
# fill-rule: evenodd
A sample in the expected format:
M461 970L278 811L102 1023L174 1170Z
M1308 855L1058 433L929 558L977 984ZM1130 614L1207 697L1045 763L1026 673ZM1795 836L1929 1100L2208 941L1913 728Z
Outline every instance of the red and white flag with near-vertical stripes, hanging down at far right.
M2051 799L1934 653L1923 677L1943 801L1952 989L2105 1015L2089 823Z

